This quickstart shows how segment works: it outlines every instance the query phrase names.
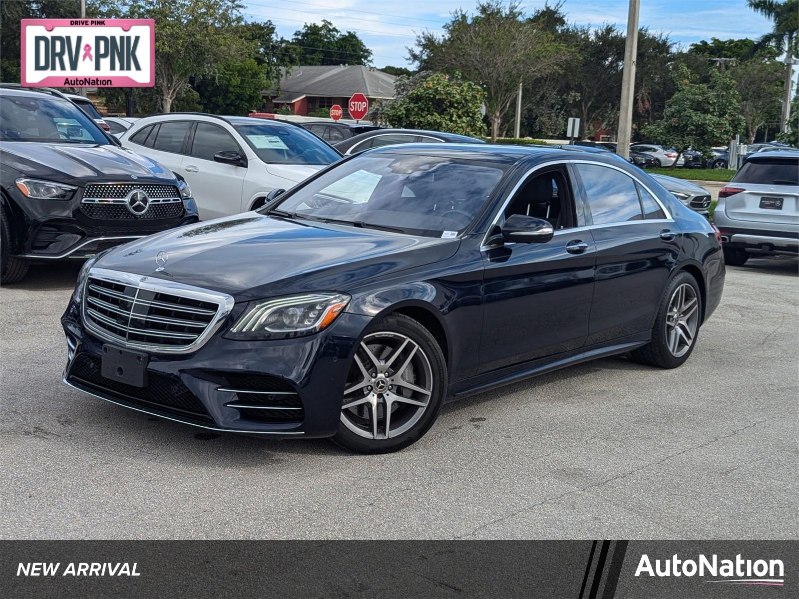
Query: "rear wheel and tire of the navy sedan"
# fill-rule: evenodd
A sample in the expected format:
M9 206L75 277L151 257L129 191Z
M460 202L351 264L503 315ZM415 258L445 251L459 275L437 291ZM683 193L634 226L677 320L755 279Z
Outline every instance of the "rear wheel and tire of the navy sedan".
M701 318L702 294L697 281L688 272L678 272L658 307L652 340L631 351L632 359L660 368L682 366L696 347Z

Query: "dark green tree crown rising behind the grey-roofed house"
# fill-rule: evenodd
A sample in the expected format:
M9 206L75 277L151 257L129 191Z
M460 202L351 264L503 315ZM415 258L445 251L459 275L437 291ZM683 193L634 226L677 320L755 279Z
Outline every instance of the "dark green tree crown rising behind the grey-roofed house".
M354 32L343 34L325 19L296 31L287 50L296 52L300 65L372 64L372 50Z

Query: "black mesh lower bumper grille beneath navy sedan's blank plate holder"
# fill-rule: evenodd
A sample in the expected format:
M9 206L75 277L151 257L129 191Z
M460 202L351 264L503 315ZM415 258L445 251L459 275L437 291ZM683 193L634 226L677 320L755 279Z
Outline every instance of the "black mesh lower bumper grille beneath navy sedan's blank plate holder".
M213 422L205 406L181 381L160 372L147 372L147 386L133 387L102 375L101 359L78 354L67 380L87 391L96 391L109 399L118 399L137 407L155 408L173 416L200 422Z

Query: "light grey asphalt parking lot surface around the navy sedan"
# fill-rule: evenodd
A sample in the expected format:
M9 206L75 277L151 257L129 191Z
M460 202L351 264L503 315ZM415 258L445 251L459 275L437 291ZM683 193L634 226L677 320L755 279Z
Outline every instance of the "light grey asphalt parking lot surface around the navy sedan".
M603 359L451 403L421 442L204 433L61 383L78 264L0 290L2 538L795 538L796 259L728 268L674 371Z

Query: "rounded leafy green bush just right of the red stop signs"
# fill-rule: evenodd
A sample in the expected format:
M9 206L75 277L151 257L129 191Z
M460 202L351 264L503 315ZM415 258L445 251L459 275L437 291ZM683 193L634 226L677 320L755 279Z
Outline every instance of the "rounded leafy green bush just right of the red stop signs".
M406 77L400 77L406 79ZM480 108L485 93L479 85L463 81L459 73L423 73L400 81L398 97L380 105L380 120L402 129L431 129L483 137L486 127ZM409 85L407 89L405 85Z

